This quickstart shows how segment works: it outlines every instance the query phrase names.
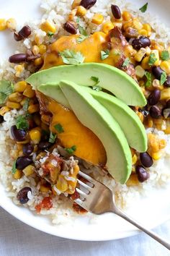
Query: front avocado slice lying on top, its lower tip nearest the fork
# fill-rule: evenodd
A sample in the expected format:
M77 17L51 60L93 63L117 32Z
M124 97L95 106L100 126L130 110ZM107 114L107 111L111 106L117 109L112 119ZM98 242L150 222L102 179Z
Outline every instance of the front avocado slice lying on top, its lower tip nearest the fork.
M104 106L79 85L62 81L60 87L79 121L102 141L107 152L109 174L124 184L131 173L132 156L120 125Z

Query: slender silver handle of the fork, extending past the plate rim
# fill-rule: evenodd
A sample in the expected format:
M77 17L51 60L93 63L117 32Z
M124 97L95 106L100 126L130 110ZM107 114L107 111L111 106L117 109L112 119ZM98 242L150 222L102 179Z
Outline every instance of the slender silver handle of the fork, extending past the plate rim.
M138 223L137 221L133 220L133 218L130 218L129 216L127 216L125 213L122 212L122 210L118 209L118 208L114 208L113 212L115 214L117 214L118 216L124 218L126 221L130 222L131 224L133 224L134 226L136 226L138 229L142 230L143 232L145 232L146 234L148 234L148 236L151 236L153 239L155 239L157 242L159 242L160 244L162 244L164 247L166 247L167 249L170 250L170 244L169 242L167 242L166 240L162 239L161 236L158 236L156 233L154 233L153 231L150 231L149 229L146 229L145 227L143 227L142 225L140 225L140 223Z

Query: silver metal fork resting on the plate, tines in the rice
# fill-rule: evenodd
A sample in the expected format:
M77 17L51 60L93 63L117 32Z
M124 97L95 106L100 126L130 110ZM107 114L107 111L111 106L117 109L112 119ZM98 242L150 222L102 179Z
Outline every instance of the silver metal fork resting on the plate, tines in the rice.
M80 179L77 179L79 185L82 187L76 187L76 192L79 193L80 198L74 200L78 205L80 205L85 210L88 210L91 213L100 215L102 213L115 213L117 216L124 218L126 221L132 223L138 229L144 231L146 234L151 236L160 244L164 245L167 249L170 250L170 243L166 242L160 236L155 234L153 231L146 229L144 226L140 225L138 221L133 220L125 213L122 212L115 205L115 200L112 194L112 191L104 186L104 184L97 182L95 179L92 179L90 176L84 174L84 172L79 171L79 175L86 179L88 182L85 184Z

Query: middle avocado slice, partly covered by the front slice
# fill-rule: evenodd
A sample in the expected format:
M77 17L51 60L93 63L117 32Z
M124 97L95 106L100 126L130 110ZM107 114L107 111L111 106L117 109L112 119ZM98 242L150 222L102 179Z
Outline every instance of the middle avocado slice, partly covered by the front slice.
M120 124L130 147L135 148L138 152L146 152L148 146L146 129L138 115L125 103L108 93L97 92L91 88L84 88L84 90L107 108L112 117Z

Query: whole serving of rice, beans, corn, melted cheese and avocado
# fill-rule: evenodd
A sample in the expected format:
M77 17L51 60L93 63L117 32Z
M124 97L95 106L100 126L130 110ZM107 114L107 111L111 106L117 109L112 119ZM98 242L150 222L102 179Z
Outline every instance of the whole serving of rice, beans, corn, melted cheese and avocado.
M15 204L53 223L85 214L80 170L120 208L169 185L170 37L147 7L42 1L40 22L1 19L18 45L0 69L0 180Z

